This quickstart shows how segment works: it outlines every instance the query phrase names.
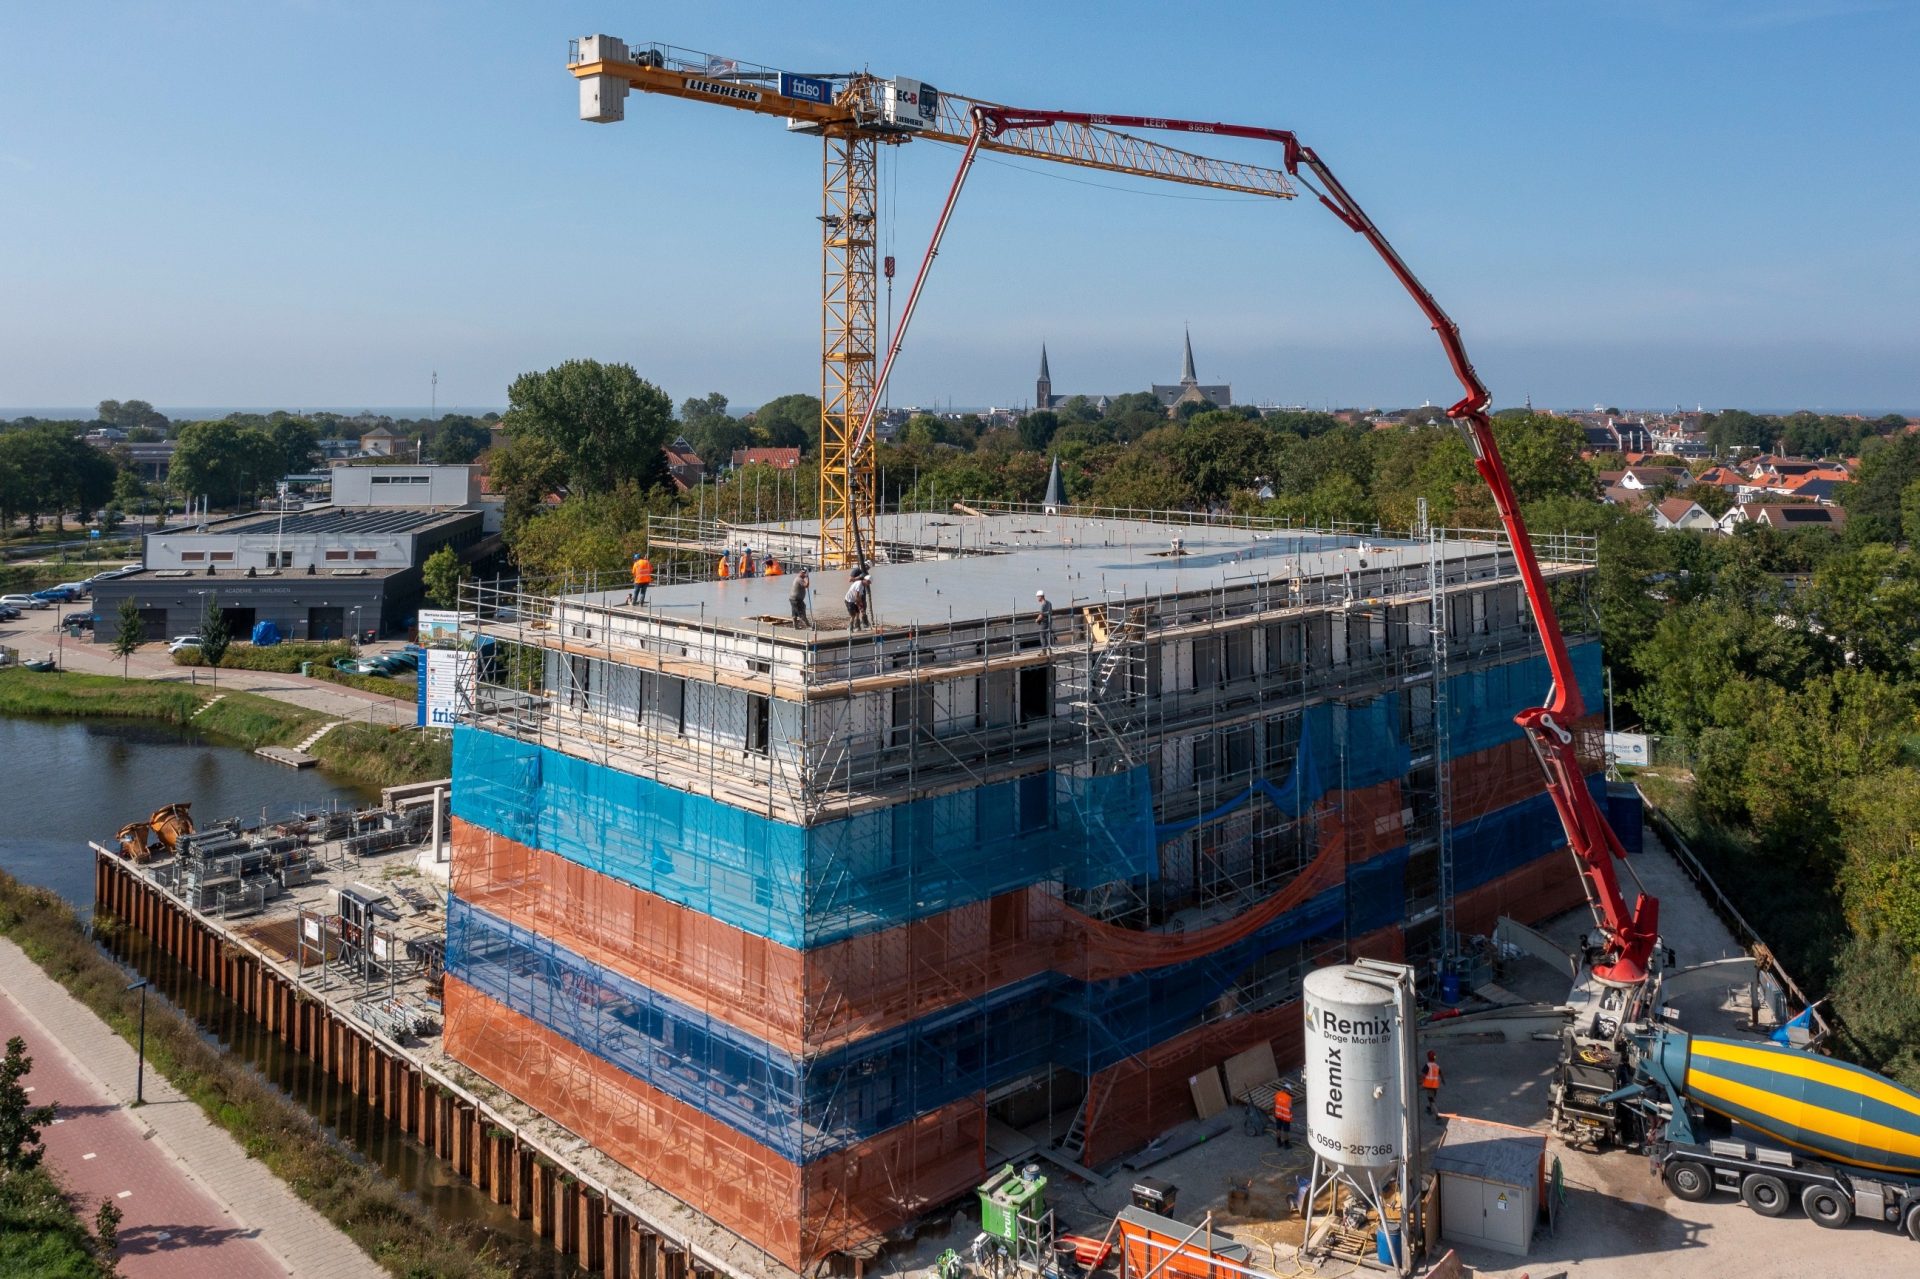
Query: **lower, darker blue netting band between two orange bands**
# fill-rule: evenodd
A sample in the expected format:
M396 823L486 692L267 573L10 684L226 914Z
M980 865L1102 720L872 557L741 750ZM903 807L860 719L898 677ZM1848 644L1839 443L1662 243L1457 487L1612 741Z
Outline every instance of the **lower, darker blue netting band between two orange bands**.
M1331 887L1219 951L1146 974L1039 974L816 1058L453 899L447 972L636 1079L806 1162L1048 1062L1104 1070L1200 1024L1261 956L1338 931Z

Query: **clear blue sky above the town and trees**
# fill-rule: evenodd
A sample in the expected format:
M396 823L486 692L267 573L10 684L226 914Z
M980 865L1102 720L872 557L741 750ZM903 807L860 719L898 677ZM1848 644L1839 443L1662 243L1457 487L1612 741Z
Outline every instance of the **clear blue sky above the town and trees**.
M434 369L497 405L574 355L818 390L820 144L641 96L580 123L593 31L1296 129L1498 403L1920 411L1920 6L1866 0L10 4L0 405L413 405ZM956 159L887 157L902 275ZM1041 340L1058 392L1173 380L1187 323L1240 399L1455 396L1309 200L1091 177L1121 190L975 169L895 403L1020 403Z

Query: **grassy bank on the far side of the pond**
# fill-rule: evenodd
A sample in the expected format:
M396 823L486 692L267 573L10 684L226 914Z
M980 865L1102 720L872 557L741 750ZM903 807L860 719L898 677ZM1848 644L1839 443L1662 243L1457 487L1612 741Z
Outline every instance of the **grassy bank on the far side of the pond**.
M319 711L257 693L227 693L207 707L211 697L213 688L205 684L182 688L113 676L0 670L0 714L190 722L244 747L294 745L326 722ZM445 734L369 724L342 724L321 737L313 753L328 772L367 785L426 782L453 770L453 747Z

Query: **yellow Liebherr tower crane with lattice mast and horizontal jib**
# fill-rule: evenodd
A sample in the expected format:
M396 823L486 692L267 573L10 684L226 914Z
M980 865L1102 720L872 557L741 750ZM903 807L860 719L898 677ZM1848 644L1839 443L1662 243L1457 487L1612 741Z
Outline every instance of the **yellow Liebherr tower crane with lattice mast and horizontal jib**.
M607 35L572 40L580 119L626 119L626 94L685 98L787 121L822 140L820 181L820 563L851 567L874 547L874 446L860 424L874 401L877 355L876 223L879 148L914 138L968 146L975 108L922 81L858 73L799 75ZM1152 127L1148 121L1144 127ZM1194 156L1089 121L1054 121L983 138L979 150L1106 173L1290 200L1281 169Z

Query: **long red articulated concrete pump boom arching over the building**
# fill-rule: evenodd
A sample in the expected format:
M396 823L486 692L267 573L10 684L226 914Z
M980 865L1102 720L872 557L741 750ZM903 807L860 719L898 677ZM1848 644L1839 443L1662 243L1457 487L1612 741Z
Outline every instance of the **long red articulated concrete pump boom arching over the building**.
M1313 194L1319 196L1319 202L1325 204L1332 215L1348 227L1348 230L1367 238L1373 252L1380 255L1386 269L1394 273L1394 278L1400 280L1402 288L1407 290L1421 313L1427 315L1434 334L1440 336L1440 346L1446 350L1448 363L1453 365L1453 376L1459 378L1461 390L1465 392L1459 403L1450 407L1446 413L1467 438L1467 447L1473 449L1475 471L1478 471L1480 478L1486 480L1486 488L1494 495L1494 505L1500 509L1500 522L1507 532L1507 540L1513 543L1513 559L1521 568L1521 582L1526 586L1526 601L1532 605L1534 622L1540 628L1540 641L1548 653L1548 668L1553 674L1553 688L1549 689L1548 705L1521 711L1513 716L1513 722L1526 732L1526 739L1532 743L1534 755L1540 759L1540 768L1546 772L1548 795L1553 797L1553 808L1559 812L1561 826L1567 830L1567 845L1572 849L1572 855L1580 864L1580 876L1586 881L1588 901L1594 905L1601 935L1605 937L1605 956L1594 964L1594 976L1615 985L1640 985L1645 981L1647 964L1651 960L1653 947L1659 941L1659 901L1647 893L1640 893L1634 906L1626 906L1626 897L1620 891L1620 878L1613 864L1615 860L1624 858L1626 851L1620 847L1613 828L1607 826L1599 805L1594 803L1592 791L1586 789L1586 778L1580 774L1580 760L1574 755L1572 730L1569 726L1586 712L1586 703L1580 697L1580 682L1574 678L1572 659L1567 655L1567 638L1561 634L1559 618L1553 613L1553 599L1548 595L1548 582L1540 572L1540 559L1534 555L1532 540L1526 534L1526 520L1521 517L1521 505L1513 494L1513 482L1507 478L1507 467L1500 459L1500 446L1494 442L1494 422L1486 413L1490 399L1486 384L1480 382L1480 374L1475 373L1473 361L1467 359L1467 348L1459 338L1459 325L1455 325L1452 317L1440 309L1434 296L1427 292L1427 286L1421 284L1419 277L1413 275L1394 246L1388 244L1380 229L1373 225L1373 219L1359 207L1359 202L1348 194L1346 186L1340 184L1340 179L1336 179L1313 148L1302 144L1296 134L1284 129L1263 129L1256 125L1223 125L1190 119L1162 119L1152 115L1029 111L1021 108L975 104L973 136L968 142L966 156L960 161L960 173L954 177L952 190L941 209L939 227L935 229L933 242L927 246L927 255L920 265L920 275L914 278L914 288L908 294L900 325L893 332L887 359L881 365L879 384L874 392L874 403L879 401L879 388L885 386L887 373L893 367L893 357L900 348L900 338L906 334L906 325L912 321L914 303L918 302L920 288L925 282L927 267L939 252L941 234L947 230L947 221L952 213L956 198L960 196L960 186L966 182L968 171L972 169L979 144L985 138L998 138L1000 134L1020 129L1050 129L1054 125L1162 129L1169 133L1208 133L1229 138L1279 142L1284 148L1286 173L1294 179L1306 181L1309 188L1317 184ZM862 422L862 440L870 428L872 413L868 413L868 421Z

